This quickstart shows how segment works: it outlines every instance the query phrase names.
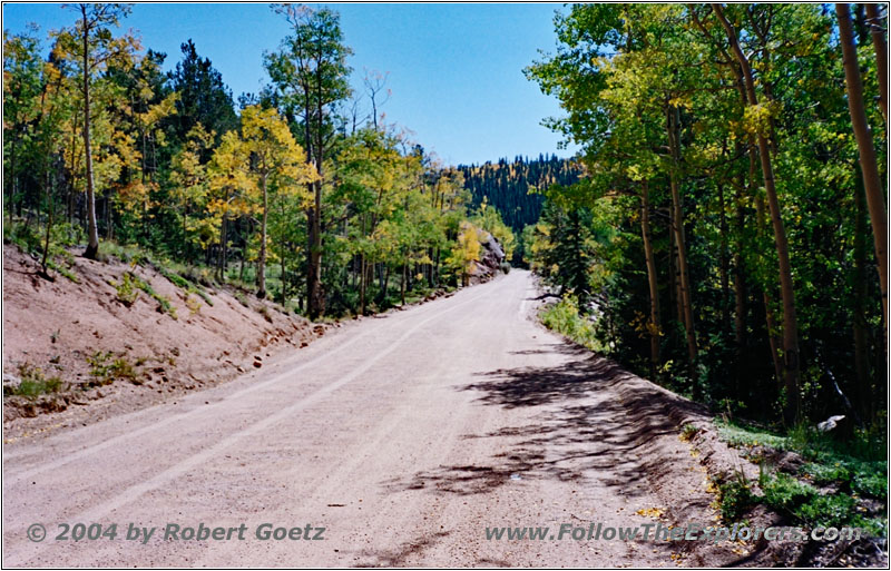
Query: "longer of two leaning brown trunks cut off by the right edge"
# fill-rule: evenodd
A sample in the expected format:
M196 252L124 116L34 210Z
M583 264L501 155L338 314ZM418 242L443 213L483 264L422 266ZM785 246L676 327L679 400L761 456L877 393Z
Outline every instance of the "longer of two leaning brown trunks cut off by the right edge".
M844 57L844 78L848 86L848 110L851 114L851 126L856 138L860 152L860 170L863 175L863 187L866 191L866 206L872 221L872 235L875 239L875 258L879 262L879 285L882 288L882 323L885 329L885 360L888 351L888 210L885 210L882 185L879 180L879 166L875 160L875 147L863 109L863 86L860 80L860 68L856 62L856 48L851 27L851 13L848 4L835 4L839 16L839 36ZM874 38L874 36L873 36ZM884 93L883 93L884 95Z

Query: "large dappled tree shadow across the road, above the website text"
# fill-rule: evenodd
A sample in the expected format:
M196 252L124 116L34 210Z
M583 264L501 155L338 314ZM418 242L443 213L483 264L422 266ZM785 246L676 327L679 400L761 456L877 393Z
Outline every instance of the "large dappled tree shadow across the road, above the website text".
M486 464L443 465L385 486L473 495L511 482L596 478L620 495L649 493L647 480L669 469L649 445L660 435L677 433L678 413L701 413L702 407L666 400L664 391L586 350L562 344L560 352L572 358L555 366L479 373L480 381L460 387L478 393L478 401L487 405L532 413L523 417L533 422L464 435L502 440L507 452Z

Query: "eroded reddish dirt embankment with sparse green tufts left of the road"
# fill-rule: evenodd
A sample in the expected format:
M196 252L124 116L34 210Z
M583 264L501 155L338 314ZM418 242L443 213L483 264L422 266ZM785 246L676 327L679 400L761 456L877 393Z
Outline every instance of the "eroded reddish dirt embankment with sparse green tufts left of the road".
M327 327L234 289L179 287L148 266L75 256L78 283L38 270L31 256L3 246L7 442L231 380Z

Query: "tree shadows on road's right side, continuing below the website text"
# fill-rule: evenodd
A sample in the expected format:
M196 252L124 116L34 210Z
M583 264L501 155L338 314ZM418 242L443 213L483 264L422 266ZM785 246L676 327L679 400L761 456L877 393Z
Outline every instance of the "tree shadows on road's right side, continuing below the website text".
M587 350L566 344L555 352L569 358L554 366L478 373L478 381L458 387L476 393L479 403L517 413L515 424L463 436L468 445L498 441L487 449L503 452L483 462L422 470L385 488L473 496L525 481L572 482L579 489L597 483L640 504L659 502L663 521L711 522L714 498L703 485L704 470L677 437L683 422L707 416L706 407ZM682 543L663 547L692 558L694 565L742 562L725 545Z

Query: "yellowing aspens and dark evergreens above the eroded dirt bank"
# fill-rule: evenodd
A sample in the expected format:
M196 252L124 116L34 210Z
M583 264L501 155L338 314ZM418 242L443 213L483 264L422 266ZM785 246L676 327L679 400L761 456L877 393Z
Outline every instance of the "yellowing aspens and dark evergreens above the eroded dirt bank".
M128 4L66 8L62 30L3 33L4 237L45 277L78 246L131 245L319 318L457 286L478 236L513 240L460 170L381 120L384 75L351 86L336 11L273 4L290 32L236 102L192 39L165 72L119 31Z

